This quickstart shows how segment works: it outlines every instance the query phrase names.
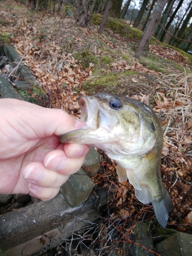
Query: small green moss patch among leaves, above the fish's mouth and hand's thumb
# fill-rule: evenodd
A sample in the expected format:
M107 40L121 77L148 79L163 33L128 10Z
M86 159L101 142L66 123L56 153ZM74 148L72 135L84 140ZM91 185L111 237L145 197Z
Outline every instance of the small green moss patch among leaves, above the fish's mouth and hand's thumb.
M73 57L78 60L83 69L89 68L89 63L98 64L97 58L93 55L90 49L84 49L73 54Z

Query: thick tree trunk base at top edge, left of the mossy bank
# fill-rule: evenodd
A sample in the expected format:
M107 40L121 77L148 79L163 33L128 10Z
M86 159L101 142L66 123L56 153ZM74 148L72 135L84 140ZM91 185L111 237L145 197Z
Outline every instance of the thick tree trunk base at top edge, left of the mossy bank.
M76 22L80 27L87 27L91 19L89 0L78 0Z

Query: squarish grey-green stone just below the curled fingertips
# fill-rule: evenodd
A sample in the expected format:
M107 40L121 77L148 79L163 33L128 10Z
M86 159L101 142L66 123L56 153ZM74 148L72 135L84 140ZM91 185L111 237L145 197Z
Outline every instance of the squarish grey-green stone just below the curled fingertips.
M80 168L77 173L71 175L68 181L60 187L60 191L67 202L72 207L75 207L89 198L93 188L93 181Z

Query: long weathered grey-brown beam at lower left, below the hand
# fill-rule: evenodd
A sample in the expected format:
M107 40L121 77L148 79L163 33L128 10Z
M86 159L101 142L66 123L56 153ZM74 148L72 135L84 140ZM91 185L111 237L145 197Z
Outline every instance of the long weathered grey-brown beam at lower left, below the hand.
M59 194L51 200L0 215L2 250L9 251L5 253L7 256L27 256L38 253L44 246L49 247L50 240L55 247L59 241L63 242L65 238L71 237L74 230L80 228L79 225L88 225L89 221L99 218L94 210L96 200L96 197L91 196L86 204L71 207L65 197ZM100 198L100 207L104 204L105 194ZM53 233L52 230L56 232ZM40 242L40 238L45 239L45 243Z

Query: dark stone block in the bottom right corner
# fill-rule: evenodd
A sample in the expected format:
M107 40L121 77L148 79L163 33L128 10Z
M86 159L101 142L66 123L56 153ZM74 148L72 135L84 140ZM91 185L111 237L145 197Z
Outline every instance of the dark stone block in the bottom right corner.
M162 256L189 256L192 252L192 235L177 232L173 236L158 243L156 251Z

